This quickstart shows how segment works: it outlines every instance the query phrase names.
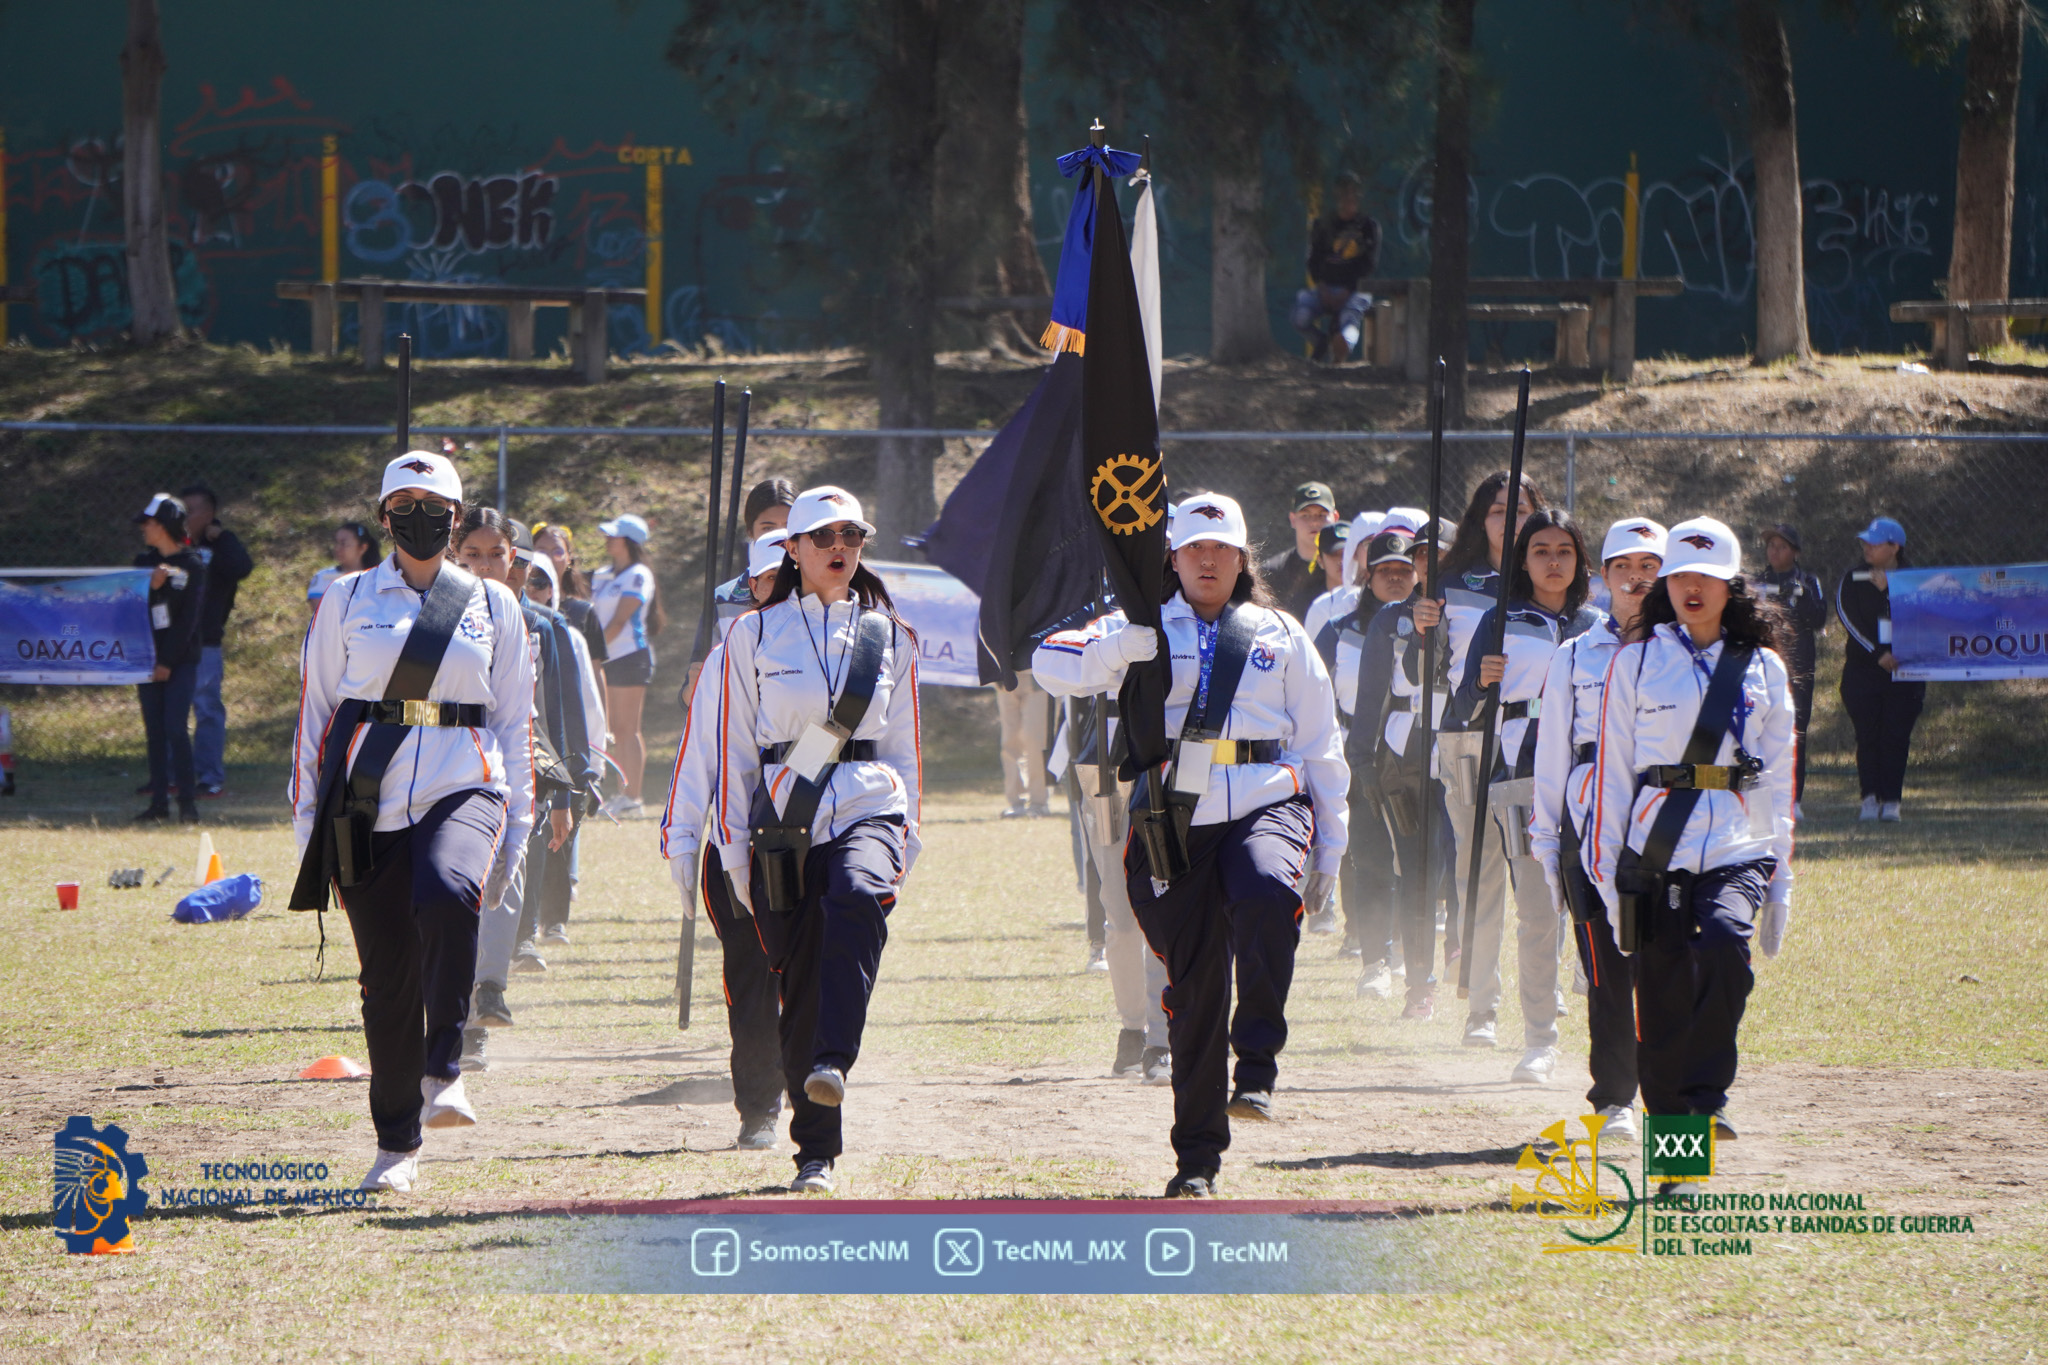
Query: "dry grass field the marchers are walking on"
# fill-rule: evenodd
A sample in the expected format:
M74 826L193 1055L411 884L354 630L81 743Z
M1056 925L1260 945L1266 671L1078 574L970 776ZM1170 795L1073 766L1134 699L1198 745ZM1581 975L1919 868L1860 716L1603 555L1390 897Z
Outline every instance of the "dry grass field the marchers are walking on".
M244 786L238 782L238 786ZM268 790L250 776L248 790ZM1864 827L1821 769L1800 831L1784 956L1759 968L1714 1189L1866 1193L1886 1212L1970 1214L1974 1234L1759 1238L1731 1261L1538 1254L1505 1212L1513 1156L1583 1107L1583 1068L1505 1085L1511 1048L1358 1001L1356 964L1309 935L1282 1054L1280 1124L1239 1132L1227 1197L1391 1199L1434 1291L1341 1297L571 1297L494 1293L563 1199L780 1197L788 1148L731 1150L717 948L692 1005L668 1001L676 902L653 825L596 827L573 943L518 978L518 1025L471 1087L483 1124L432 1134L416 1195L326 1214L152 1212L133 1257L66 1257L49 1134L117 1121L152 1191L199 1164L369 1158L362 1087L301 1083L360 1058L354 954L328 919L270 907L170 923L190 837L117 825L125 800L0 831L0 1355L6 1359L1989 1359L2048 1353L2048 800L2015 784L1909 790ZM926 808L926 862L891 923L846 1107L846 1197L1155 1195L1165 1091L1106 1078L1108 982L1081 972L1061 821L995 821L995 792ZM104 825L94 823L98 810ZM229 870L289 878L289 833L256 796L221 810ZM117 866L180 872L106 890ZM78 913L51 884L86 884ZM1509 948L1511 952L1511 948ZM1511 978L1511 964L1505 964ZM1511 995L1511 993L1509 993ZM1442 997L1448 1001L1448 993ZM1503 1007L1503 1040L1518 1036ZM1565 1050L1583 1058L1583 1011Z

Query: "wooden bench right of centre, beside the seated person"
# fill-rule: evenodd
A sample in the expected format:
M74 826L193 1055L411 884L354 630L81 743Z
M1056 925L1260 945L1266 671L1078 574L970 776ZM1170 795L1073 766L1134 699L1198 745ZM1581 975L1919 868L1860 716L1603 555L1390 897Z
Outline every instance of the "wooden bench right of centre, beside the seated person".
M1430 280L1360 280L1372 295L1372 364L1399 368L1409 383L1430 375ZM1583 303L1591 309L1585 360L1612 379L1628 383L1636 370L1636 299L1675 299L1686 280L1657 276L1640 280L1532 280L1522 276L1477 276L1466 284L1470 307L1487 301L1548 299L1559 305ZM1563 325L1563 319L1559 319ZM1559 352L1559 364L1571 364Z

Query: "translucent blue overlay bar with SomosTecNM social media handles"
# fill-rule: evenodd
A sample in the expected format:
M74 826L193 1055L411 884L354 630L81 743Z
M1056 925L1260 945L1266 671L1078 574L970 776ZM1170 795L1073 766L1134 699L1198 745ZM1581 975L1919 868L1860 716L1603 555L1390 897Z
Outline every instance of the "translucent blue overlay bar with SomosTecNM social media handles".
M752 1207L750 1207L752 1203ZM1421 1293L1415 1220L1280 1201L721 1201L535 1216L514 1293ZM1016 1209L1030 1212L1016 1212Z

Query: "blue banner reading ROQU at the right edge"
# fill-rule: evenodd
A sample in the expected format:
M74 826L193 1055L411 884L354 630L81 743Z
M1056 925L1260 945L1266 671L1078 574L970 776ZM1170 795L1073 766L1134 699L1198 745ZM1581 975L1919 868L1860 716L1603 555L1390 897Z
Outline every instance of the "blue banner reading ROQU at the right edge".
M1892 569L1901 681L2048 677L2048 565Z

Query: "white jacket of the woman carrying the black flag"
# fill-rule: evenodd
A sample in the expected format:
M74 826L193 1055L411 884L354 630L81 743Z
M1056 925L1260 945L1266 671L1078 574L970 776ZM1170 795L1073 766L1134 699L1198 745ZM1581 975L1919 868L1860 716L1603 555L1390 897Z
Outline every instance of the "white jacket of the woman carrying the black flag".
M1219 765L1208 772L1208 790L1194 806L1196 825L1227 825L1262 806L1309 792L1315 804L1315 870L1337 872L1343 860L1346 796L1352 769L1337 737L1337 702L1329 671L1315 645L1286 612L1243 604L1257 628L1245 661L1223 739L1278 739L1278 763ZM1194 608L1176 593L1161 610L1161 647L1174 659L1174 688L1165 698L1165 729L1180 726L1194 704L1200 653ZM1124 622L1102 618L1081 630L1049 634L1032 655L1032 677L1055 696L1090 696L1122 686L1124 661L1110 636Z

